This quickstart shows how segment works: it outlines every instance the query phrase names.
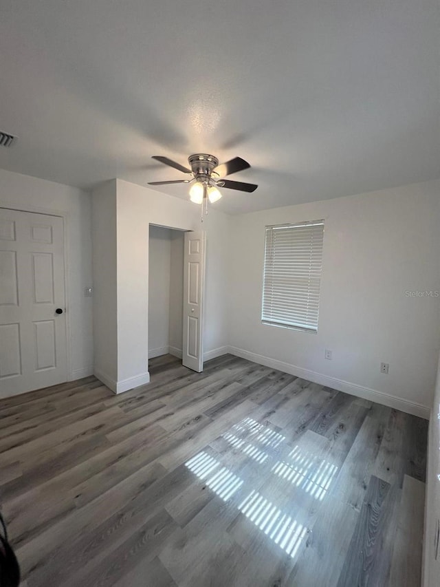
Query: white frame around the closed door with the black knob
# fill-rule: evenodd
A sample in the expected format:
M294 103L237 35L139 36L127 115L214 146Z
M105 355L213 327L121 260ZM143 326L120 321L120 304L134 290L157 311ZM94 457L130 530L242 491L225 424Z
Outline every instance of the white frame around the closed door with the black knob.
M64 299L67 310L65 311L66 317L66 367L67 367L67 381L74 381L72 374L72 324L70 320L70 298L69 298L69 250L68 250L68 236L69 236L69 212L65 210L40 208L38 206L28 206L20 204L10 204L0 200L0 208L6 210L14 210L17 212L30 212L33 214L45 214L47 216L58 216L63 219L63 239L64 239Z

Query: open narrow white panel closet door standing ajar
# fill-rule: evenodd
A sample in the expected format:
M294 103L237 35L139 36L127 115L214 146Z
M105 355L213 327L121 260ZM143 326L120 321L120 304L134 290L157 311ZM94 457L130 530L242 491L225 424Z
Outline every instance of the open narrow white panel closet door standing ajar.
M184 344L182 363L203 371L203 284L206 233L185 233L184 251Z

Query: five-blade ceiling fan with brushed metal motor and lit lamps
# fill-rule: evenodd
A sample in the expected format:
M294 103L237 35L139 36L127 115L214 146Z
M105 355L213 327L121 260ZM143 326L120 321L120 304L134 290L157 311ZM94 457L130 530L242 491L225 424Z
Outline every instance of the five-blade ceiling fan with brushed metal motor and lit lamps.
M169 165L169 167L174 167L183 173L188 173L189 175L192 175L192 178L190 180L148 182L148 184L152 186L160 186L166 184L190 184L195 182L190 188L190 200L191 202L195 202L195 204L205 204L206 213L208 210L208 200L211 204L220 200L221 193L218 189L219 187L247 192L255 191L258 187L256 184L221 179L225 175L231 175L237 171L243 171L243 169L250 168L250 164L244 159L241 159L241 157L235 157L234 159L219 165L217 157L207 155L206 153L195 153L188 157L188 163L190 164L191 169L168 159L168 157L154 155L152 159L164 163L165 165Z

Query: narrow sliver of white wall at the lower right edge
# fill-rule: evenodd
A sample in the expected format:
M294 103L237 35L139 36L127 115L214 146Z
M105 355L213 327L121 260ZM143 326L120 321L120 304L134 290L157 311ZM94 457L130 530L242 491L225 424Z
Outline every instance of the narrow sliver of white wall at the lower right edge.
M440 360L434 405L429 425L428 476L426 479L425 540L423 553L423 587L438 587L440 577L440 544L435 536L440 524ZM437 539L438 540L438 539ZM435 558L438 552L437 560Z

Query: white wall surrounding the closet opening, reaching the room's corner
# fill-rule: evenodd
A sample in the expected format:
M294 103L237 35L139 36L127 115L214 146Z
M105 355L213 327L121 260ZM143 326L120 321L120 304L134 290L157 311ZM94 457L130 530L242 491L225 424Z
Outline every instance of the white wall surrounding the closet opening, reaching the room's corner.
M123 180L117 184L118 238L118 381L123 391L149 380L148 376L148 225L183 231L201 228L200 207ZM224 352L228 217L214 209L206 230L206 357Z

